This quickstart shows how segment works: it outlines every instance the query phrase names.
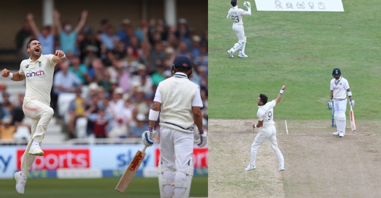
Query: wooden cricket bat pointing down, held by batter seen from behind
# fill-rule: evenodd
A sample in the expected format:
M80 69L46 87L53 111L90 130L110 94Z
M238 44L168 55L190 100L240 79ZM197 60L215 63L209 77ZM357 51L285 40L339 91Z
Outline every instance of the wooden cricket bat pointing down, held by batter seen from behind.
M143 149L138 150L138 152L136 152L135 156L132 158L130 162L130 165L128 165L128 168L123 173L123 176L120 178L117 187L115 187L116 191L121 193L124 193L126 191L126 188L130 184L136 171L139 169L139 166L142 163L144 157L146 157L146 148L147 146L144 146Z

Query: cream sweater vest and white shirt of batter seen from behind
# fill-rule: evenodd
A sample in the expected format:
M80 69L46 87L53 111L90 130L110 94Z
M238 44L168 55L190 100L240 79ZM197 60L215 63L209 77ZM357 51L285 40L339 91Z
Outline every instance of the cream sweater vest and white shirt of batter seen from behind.
M197 92L200 92L200 87L181 72L176 72L171 78L160 82L154 98L155 102L161 103L159 125L193 133L192 106L203 106Z

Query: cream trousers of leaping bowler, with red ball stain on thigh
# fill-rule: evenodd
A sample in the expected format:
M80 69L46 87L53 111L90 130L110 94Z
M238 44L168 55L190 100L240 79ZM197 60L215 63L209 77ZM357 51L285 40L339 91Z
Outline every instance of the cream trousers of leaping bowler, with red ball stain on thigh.
M28 154L30 146L32 145L33 140L40 142L41 146L42 139L46 133L46 127L48 127L54 111L49 105L38 100L24 100L22 111L24 111L24 114L27 117L32 119L32 136L30 137L24 155L22 155L21 158L21 174L26 177L36 158L35 155Z

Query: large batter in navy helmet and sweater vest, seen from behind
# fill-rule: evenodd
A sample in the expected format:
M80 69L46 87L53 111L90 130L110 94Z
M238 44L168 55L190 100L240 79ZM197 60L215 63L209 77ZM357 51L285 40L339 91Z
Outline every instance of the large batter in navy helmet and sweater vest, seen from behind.
M186 56L173 61L174 75L160 82L149 111L149 127L142 134L143 143L151 146L155 122L160 112L160 160L158 179L161 198L189 198L194 166L194 138L199 147L207 143L202 126L203 107L200 87L190 81L192 63ZM194 124L200 129L194 136ZM197 138L196 138L197 136Z

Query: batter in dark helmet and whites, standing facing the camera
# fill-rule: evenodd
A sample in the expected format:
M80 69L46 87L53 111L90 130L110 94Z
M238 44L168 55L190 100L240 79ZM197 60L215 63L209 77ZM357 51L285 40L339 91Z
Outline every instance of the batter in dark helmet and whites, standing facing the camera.
M352 107L355 105L355 101L352 100L352 92L349 88L349 83L347 79L341 76L341 71L339 68L335 68L332 71L333 79L331 80L331 100L328 102L328 108L335 110L333 114L336 121L337 131L333 135L338 135L344 137L345 135L345 125L346 116L345 112L347 110L347 93L349 97L349 105Z

